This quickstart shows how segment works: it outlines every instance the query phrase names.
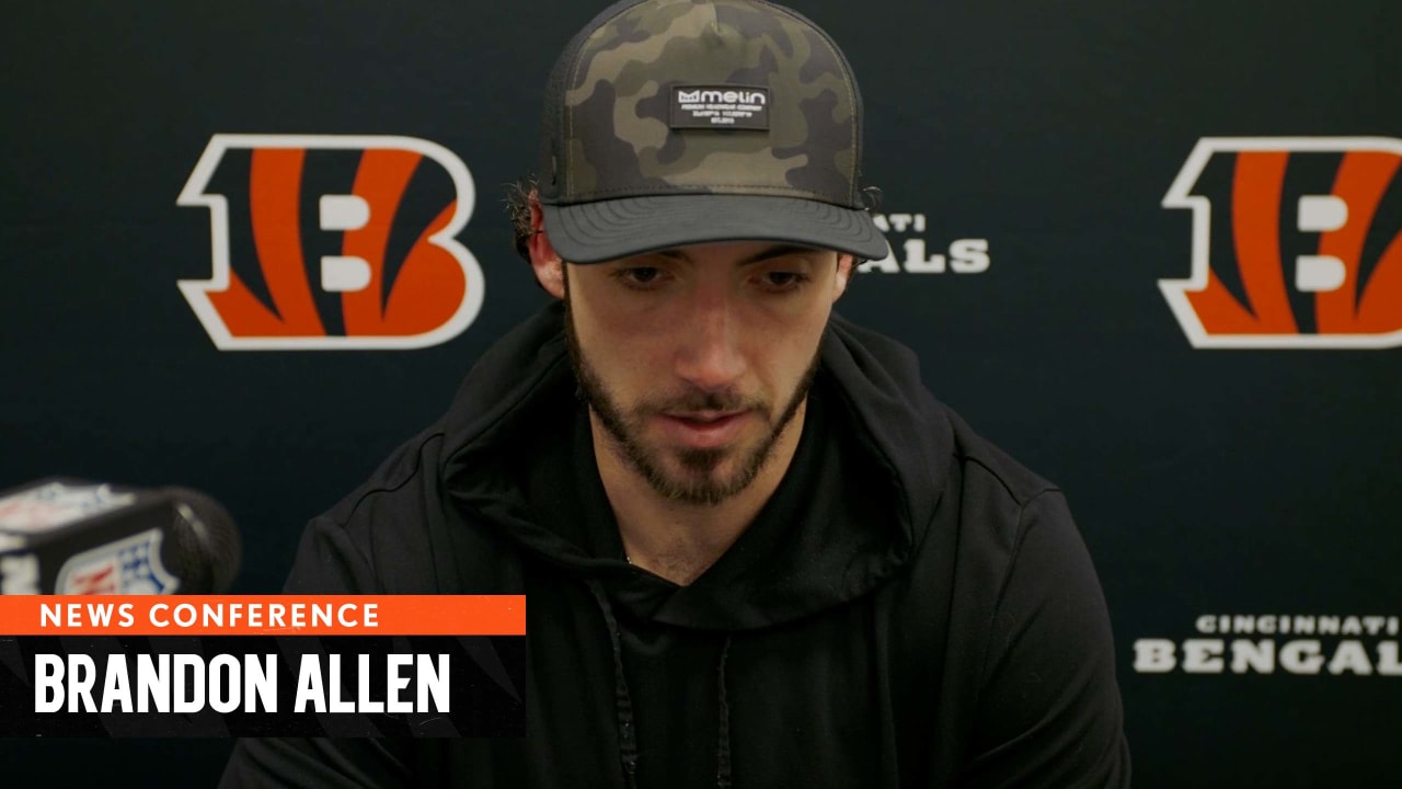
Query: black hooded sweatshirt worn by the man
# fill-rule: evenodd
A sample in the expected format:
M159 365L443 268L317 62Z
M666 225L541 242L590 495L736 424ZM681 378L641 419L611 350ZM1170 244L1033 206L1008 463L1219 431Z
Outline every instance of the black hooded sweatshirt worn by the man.
M629 566L545 309L307 528L289 592L526 594L527 730L244 740L224 786L1127 786L1061 493L833 317L788 473L701 577Z

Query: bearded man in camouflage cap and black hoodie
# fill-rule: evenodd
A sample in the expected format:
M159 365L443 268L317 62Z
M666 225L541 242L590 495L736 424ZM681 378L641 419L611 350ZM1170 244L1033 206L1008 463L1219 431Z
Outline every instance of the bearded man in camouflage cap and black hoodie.
M1057 489L831 314L886 241L831 39L625 0L545 101L555 303L307 529L289 591L527 595L529 734L245 741L227 785L1124 786Z

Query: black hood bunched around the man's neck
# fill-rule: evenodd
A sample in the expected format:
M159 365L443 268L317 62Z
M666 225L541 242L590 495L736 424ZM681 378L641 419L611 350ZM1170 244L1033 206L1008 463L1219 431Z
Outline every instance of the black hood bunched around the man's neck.
M470 524L601 587L629 616L680 628L770 628L872 591L924 539L952 462L952 425L916 355L834 314L784 483L679 587L624 562L593 453L571 453L583 409L552 303L468 372L443 423L444 487Z

